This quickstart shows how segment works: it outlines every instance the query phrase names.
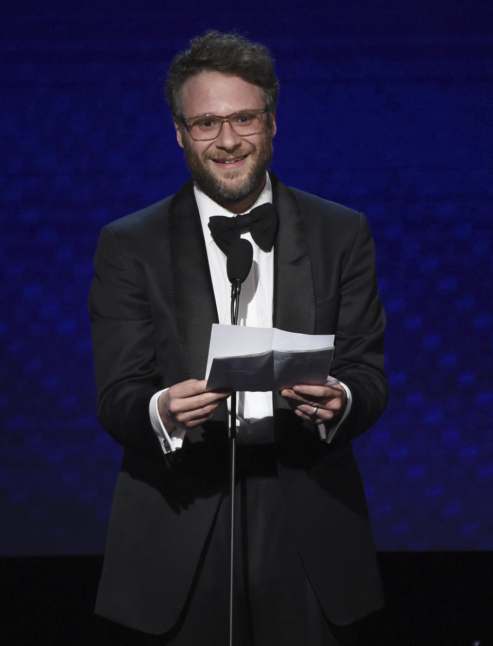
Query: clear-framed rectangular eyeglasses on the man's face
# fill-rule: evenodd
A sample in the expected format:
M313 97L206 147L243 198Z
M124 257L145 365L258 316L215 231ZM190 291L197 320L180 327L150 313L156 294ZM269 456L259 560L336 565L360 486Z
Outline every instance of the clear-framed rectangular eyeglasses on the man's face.
M238 112L227 114L225 117L220 117L216 114L199 114L188 119L182 118L181 121L194 141L211 141L219 136L222 125L226 122L240 137L257 134L262 130L266 112L267 108L262 110L238 110Z

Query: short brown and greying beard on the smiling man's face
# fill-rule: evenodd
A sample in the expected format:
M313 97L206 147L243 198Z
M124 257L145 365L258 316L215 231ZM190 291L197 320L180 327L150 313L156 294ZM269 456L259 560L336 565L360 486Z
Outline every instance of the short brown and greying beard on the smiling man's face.
M209 167L207 167L206 156L201 156L194 151L187 138L183 138L185 161L194 180L202 191L218 204L241 202L253 193L264 182L266 172L272 160L272 137L267 132L258 145L252 145L247 151L235 151L236 157L245 154L255 155L253 167L247 176L240 182L231 180L239 174L239 171L230 171L224 174L224 180L218 178Z

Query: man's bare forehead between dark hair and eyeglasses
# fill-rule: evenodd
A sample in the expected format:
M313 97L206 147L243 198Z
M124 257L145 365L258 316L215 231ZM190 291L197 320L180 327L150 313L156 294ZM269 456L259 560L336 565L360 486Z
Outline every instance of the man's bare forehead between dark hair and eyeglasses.
M220 72L200 72L185 81L182 90L185 117L196 114L224 116L236 110L264 107L264 93L258 85Z

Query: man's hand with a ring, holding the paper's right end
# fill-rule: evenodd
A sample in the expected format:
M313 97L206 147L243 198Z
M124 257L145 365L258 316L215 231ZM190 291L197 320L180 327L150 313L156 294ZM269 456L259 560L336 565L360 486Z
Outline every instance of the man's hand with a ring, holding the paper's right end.
M313 424L333 424L346 408L348 395L335 377L328 377L320 386L295 384L284 388L280 394L293 411Z

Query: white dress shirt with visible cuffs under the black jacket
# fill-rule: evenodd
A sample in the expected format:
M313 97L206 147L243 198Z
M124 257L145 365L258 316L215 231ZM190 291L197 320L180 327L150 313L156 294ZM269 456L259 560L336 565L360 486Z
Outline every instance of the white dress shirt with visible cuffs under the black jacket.
M234 217L235 214L227 211L211 200L197 184L194 185L194 194L202 223L202 231L204 232L207 260L209 261L209 269L211 271L218 319L220 323L229 325L231 324L231 283L226 273L226 255L215 244L207 224L209 223L209 218L212 216L223 215ZM270 202L272 202L272 185L267 174L266 185L262 193L260 193L255 203L245 213L249 213L251 209L261 204ZM238 307L238 325L271 328L274 294L274 250L271 249L268 253L262 251L253 242L249 231L242 233L241 237L251 242L253 246L253 262L250 273L242 284L240 304ZM326 434L326 429L323 424L319 426L321 439L328 442L331 441L337 428L339 428L342 421L348 415L351 406L350 390L345 384L341 385L348 394L348 403L346 404L344 415L339 423L331 429L329 435ZM158 399L165 390L167 389L160 390L153 395L149 404L149 415L151 417L152 428L154 428L154 432L160 440L163 452L169 453L182 447L185 430L175 429L172 433L166 431L158 412ZM230 401L231 398L228 397L228 409ZM238 393L236 414L238 443L263 444L272 442L274 439L272 413L271 392Z

